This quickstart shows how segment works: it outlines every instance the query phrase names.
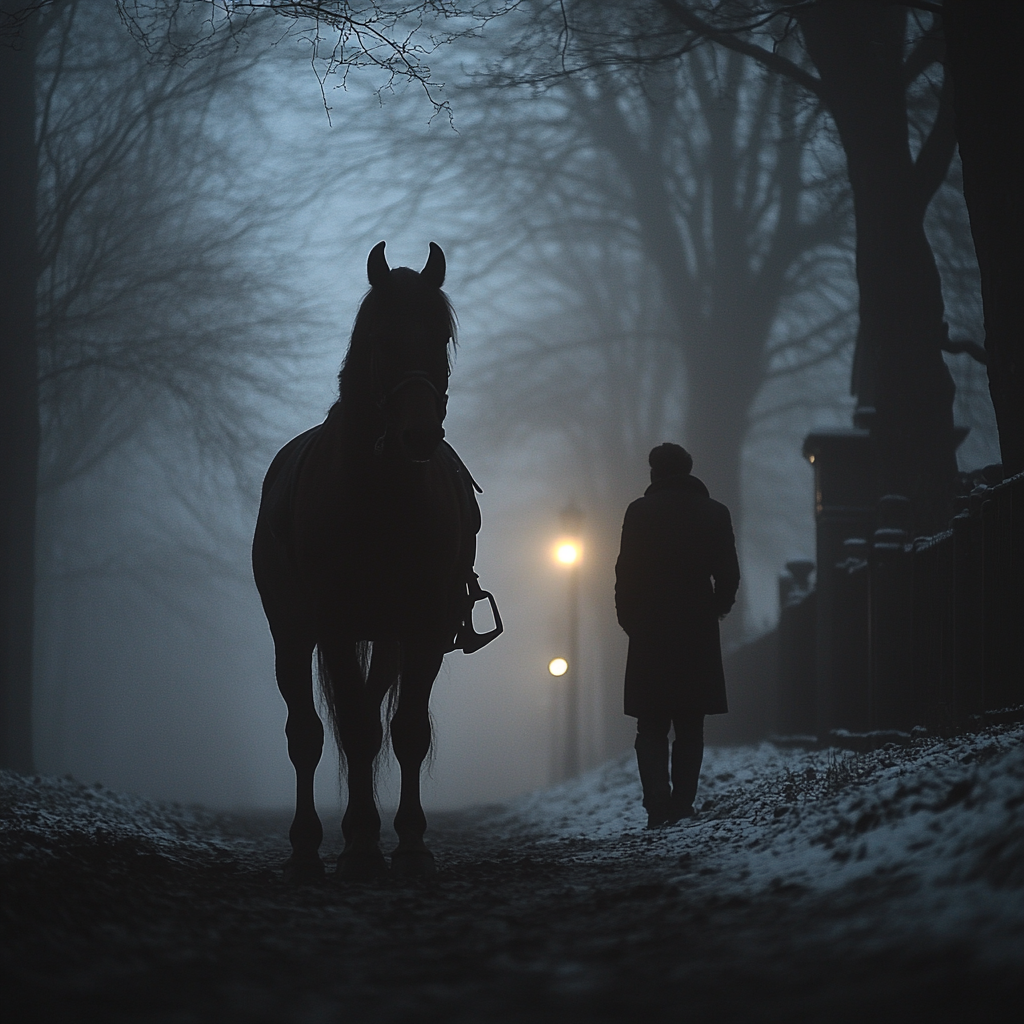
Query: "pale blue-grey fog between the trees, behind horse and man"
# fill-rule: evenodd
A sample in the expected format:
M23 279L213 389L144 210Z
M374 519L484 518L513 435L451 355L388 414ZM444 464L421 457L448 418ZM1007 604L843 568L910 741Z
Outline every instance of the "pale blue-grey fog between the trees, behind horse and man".
M39 772L223 808L282 807L293 799L285 706L248 545L270 459L334 400L367 288L367 253L380 239L392 266L419 268L430 241L447 255L445 291L460 318L460 349L445 428L483 486L476 571L506 626L482 651L445 658L431 705L424 804L503 801L558 778L563 694L546 667L561 652L566 580L550 547L570 500L586 516L584 763L629 741L630 723L618 714L625 637L612 610L617 525L646 485L653 443L692 446L694 473L709 479L713 496L724 444L720 451L708 441L690 416L701 388L692 386L696 372L679 344L680 316L656 254L638 241L644 214L615 206L615 196L631 193L611 180L612 158L595 157L596 143L579 138L571 160L544 150L547 139L569 144L564 125L575 122L564 97L481 99L467 82L464 69L482 61L487 47L500 50L503 31L475 49L439 54L435 75L446 83L454 123L415 86L378 91L382 83L370 73L353 73L345 90L328 82L329 116L301 34L273 46L250 40L252 67L228 84L197 83L209 99L201 132L169 116L133 142L151 147L151 159L97 184L95 209L69 220L62 245L77 252L89 248L88 232L104 209L127 220L136 209L133 191L168 203L176 196L178 205L154 213L148 226L125 231L111 280L123 284L126 267L166 262L155 239L180 246L188 265L158 267L166 285L159 302L152 291L112 285L103 302L89 307L95 317L101 306L105 319L88 330L108 341L123 337L126 350L163 339L159 359L119 378L117 390L103 379L88 394L54 392L46 407L44 462L52 479L41 484L39 512ZM135 44L125 37L117 45ZM699 72L695 66L692 74ZM164 72L136 69L145 74ZM741 98L756 87L752 78L737 81ZM692 81L659 87L670 84L683 106L696 95ZM70 88L54 83L57 108ZM640 93L626 86L623 95L624 106L639 102ZM744 102L735 115L743 131ZM195 97L169 100L168 109L174 103L193 111ZM797 110L792 117L800 125L812 115ZM767 352L765 372L742 413L736 498L729 496L743 575L731 644L774 625L782 565L813 557L811 471L801 442L810 429L849 425L853 411L849 203L836 183L841 152L821 120L808 128L800 158L802 209L808 217L815 204L845 212L826 243L794 263L788 290L756 339ZM693 128L692 152L681 144L677 153L681 180L697 174L701 131ZM539 154L528 160L526 148L513 152L515 140L535 141ZM752 136L755 142L773 144ZM209 159L185 159L185 151L204 147ZM555 172L568 168L567 160L574 171L559 184ZM551 180L529 178L534 165ZM981 337L957 175L954 161L929 231L951 333ZM58 178L44 177L42 187L56 188ZM758 230L770 231L772 216ZM699 232L693 239L698 248ZM211 240L216 245L204 248ZM696 275L701 259L693 253ZM81 258L73 253L68 265ZM86 331L48 330L55 338L74 335L76 344ZM181 370L173 388L162 388L186 356L195 374ZM984 368L965 356L948 362L958 383L957 420L971 428L961 467L997 461ZM89 434L87 422L109 433ZM338 806L330 748L317 790L322 807ZM390 769L381 799L385 806L397 799Z

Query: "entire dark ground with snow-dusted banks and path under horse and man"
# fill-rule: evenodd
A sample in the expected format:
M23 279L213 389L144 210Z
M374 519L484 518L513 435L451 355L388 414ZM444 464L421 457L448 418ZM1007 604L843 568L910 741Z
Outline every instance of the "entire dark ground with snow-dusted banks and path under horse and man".
M1024 727L709 750L698 801L645 830L625 757L433 815L434 880L293 889L280 815L0 776L4 1019L1021 1019Z

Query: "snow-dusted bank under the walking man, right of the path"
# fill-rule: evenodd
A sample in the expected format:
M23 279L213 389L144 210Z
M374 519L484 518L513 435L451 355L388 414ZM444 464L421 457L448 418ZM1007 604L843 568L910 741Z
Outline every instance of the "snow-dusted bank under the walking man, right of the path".
M1024 963L1020 724L863 754L709 748L696 806L693 819L645 829L629 754L519 799L497 823L510 837L565 844L578 859L633 856L640 846L674 861L676 881L692 887L695 878L723 895L827 898L888 880L888 939L926 927L934 938L971 936L993 964Z

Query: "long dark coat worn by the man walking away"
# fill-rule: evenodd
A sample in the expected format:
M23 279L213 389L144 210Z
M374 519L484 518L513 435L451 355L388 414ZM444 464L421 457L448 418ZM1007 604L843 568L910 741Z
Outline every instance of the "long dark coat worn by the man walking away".
M738 586L729 510L695 476L652 483L630 505L615 563L627 715L729 710L718 622Z

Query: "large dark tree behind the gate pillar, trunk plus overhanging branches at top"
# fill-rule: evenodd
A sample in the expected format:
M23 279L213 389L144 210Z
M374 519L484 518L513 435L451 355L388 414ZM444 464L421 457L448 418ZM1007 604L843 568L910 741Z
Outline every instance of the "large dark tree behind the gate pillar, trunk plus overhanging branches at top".
M954 152L952 94L948 86L939 90L916 153L906 102L907 88L941 57L933 15L911 34L905 8L871 0L782 7L657 0L631 5L617 23L606 8L595 14L587 0L566 11L561 74L675 60L711 42L825 103L846 152L854 202L860 326L853 386L877 410L879 486L911 498L918 529L941 526L956 467L954 388L942 351L959 346L948 341L924 217ZM798 42L813 70L791 55Z

